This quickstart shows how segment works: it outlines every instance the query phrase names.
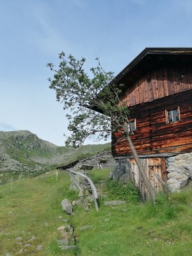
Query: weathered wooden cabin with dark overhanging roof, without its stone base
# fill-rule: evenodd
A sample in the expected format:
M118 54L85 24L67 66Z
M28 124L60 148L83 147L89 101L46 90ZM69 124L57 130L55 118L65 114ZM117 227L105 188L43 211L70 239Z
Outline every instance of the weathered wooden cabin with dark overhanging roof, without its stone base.
M192 48L146 48L115 83L124 84L122 100L130 109L131 139L158 191L161 183L154 173L167 181L166 159L192 152ZM112 134L112 151L113 177L132 179L145 198L129 145L118 132Z

